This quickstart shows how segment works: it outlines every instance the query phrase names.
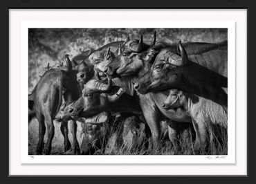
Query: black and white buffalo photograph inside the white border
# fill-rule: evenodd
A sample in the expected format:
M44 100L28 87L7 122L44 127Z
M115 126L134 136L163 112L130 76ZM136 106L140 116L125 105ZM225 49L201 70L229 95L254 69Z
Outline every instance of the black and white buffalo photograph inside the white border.
M228 28L29 28L28 155L228 155Z

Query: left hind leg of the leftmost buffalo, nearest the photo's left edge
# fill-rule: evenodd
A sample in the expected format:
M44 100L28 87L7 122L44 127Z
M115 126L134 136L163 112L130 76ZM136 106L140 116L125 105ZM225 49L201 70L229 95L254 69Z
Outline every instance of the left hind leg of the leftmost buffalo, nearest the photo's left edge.
M37 143L36 154L42 154L42 151L44 149L44 134L46 133L46 126L44 125L44 116L37 115L37 120L39 122L39 141Z

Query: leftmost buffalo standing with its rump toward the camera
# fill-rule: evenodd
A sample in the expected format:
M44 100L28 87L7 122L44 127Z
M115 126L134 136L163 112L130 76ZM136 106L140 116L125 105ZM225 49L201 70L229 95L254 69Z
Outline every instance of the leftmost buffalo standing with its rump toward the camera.
M33 92L28 96L29 120L35 116L39 122L39 142L37 144L37 154L50 154L51 142L55 133L53 120L60 110L62 97L67 104L77 100L80 97L81 91L76 82L75 73L72 71L71 62L68 55L66 59L66 71L61 69L51 69L46 71L40 78L39 82L33 89ZM46 126L48 130L48 140L44 145L44 134ZM72 121L71 133L73 134L73 153L80 152L80 148L76 138L77 125ZM71 143L68 140L67 121L63 121L61 131L64 136L64 149L68 151L71 148Z

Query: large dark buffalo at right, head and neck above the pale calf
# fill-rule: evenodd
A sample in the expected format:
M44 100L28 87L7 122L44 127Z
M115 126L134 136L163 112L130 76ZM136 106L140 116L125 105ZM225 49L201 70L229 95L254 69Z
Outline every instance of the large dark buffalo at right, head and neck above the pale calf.
M177 88L203 96L227 107L227 46L196 55L188 55L179 42L178 55L170 49L161 50L152 68L134 84L139 93Z

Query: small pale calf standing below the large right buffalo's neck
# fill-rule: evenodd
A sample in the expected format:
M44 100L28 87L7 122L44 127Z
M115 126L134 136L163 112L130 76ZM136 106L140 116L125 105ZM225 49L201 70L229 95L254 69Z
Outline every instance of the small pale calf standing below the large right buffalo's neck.
M212 125L219 125L225 129L228 126L228 115L220 104L178 89L171 89L163 107L165 109L183 108L190 114L196 131L194 142L196 150L205 150L208 134L212 143L214 137Z

